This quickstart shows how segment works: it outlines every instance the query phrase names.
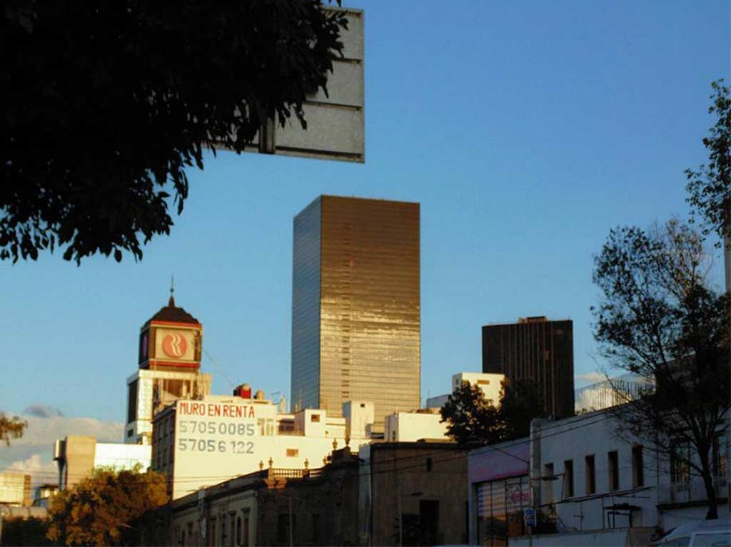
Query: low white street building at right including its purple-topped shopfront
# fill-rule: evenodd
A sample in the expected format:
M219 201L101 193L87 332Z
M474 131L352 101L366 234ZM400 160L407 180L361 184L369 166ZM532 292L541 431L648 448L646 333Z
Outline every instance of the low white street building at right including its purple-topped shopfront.
M621 435L621 410L536 419L530 437L471 451L470 543L646 545L658 529L705 519L700 477L651 439L632 443ZM727 445L728 429L719 431L710 455L719 516L729 513ZM526 508L537 513L532 538L523 535Z

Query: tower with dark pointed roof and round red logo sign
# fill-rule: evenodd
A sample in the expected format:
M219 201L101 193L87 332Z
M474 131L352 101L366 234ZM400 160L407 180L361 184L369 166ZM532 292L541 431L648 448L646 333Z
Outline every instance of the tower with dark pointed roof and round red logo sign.
M140 329L139 369L127 378L126 443L150 444L152 418L178 399L211 393L211 375L200 372L203 326L170 299Z

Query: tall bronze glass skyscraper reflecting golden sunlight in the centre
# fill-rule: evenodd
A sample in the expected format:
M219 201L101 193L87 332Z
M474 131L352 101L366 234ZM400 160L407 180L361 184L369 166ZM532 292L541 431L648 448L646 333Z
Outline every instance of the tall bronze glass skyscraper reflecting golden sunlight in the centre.
M419 204L319 196L295 217L292 408L376 424L420 403Z

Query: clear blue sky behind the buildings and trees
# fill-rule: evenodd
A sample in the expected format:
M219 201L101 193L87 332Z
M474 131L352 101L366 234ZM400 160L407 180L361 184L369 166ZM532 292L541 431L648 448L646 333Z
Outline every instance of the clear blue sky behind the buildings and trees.
M420 202L423 398L481 369L480 326L525 315L571 318L575 372L597 370L592 256L612 226L687 215L729 2L345 5L366 11L366 163L219 153L138 263L0 262L0 410L121 422L171 274L213 391L289 394L292 218L319 194ZM48 459L27 435L0 467Z

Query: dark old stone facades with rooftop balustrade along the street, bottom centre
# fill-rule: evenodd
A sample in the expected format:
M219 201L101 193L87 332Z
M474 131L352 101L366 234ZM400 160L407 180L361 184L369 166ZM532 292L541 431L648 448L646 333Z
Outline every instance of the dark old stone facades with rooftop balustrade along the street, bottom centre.
M174 500L169 545L464 543L465 481L450 443L345 447L318 469L267 467Z

